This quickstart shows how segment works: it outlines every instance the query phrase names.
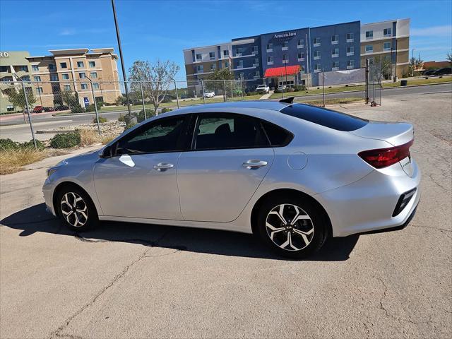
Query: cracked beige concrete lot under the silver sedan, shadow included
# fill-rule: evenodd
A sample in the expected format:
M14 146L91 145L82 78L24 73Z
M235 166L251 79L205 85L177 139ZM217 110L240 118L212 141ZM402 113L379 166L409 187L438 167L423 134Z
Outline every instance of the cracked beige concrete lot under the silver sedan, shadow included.
M44 211L49 158L0 177L0 338L451 338L452 95L340 109L414 124L422 198L405 230L333 239L307 261L234 232L74 234Z

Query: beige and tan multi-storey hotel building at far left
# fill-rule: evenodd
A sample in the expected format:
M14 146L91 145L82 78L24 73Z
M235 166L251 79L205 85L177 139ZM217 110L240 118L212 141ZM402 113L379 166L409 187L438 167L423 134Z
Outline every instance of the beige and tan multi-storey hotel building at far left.
M76 95L82 107L94 102L93 91L97 102L114 103L121 95L118 57L113 48L54 49L49 52L52 55L42 57L30 57L28 52L8 52L8 58L1 58L1 112L20 109L7 102L8 90L18 87L18 84L8 84L18 81L15 74L23 81L31 81L27 86L35 94L33 107L66 105L61 96L65 90Z

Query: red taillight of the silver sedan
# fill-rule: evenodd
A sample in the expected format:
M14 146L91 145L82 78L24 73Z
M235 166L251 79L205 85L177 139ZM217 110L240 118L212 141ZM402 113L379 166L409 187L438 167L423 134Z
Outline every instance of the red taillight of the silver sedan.
M359 152L359 157L375 168L383 168L394 165L396 162L410 156L410 147L414 139L409 143L389 148L379 148L378 150L363 150Z

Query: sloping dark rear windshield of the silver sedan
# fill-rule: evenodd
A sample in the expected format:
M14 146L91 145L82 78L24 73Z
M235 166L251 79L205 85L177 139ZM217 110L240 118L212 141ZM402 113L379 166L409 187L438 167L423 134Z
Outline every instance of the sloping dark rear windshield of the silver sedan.
M340 113L331 109L314 107L309 105L294 104L281 109L281 113L306 121L314 122L321 126L337 131L355 131L369 124L369 120Z

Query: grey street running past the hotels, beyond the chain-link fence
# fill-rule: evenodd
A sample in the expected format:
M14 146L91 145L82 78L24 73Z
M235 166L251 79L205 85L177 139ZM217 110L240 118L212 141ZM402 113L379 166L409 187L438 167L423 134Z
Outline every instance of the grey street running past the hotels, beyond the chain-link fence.
M452 83L443 83L438 85L427 86L412 86L412 87L400 87L400 88L386 88L382 92L383 105L386 97L400 96L400 95L422 95L428 93L444 93L452 92ZM364 92L351 92L351 93L331 93L327 95L327 98L337 97L364 97ZM307 100L319 100L322 95L305 95L303 97ZM119 112L107 112L102 113L102 117L109 120L116 120L119 114L126 114L127 111ZM89 124L93 121L95 114L70 114L66 117L57 116L53 117L52 112L44 114L32 114L32 121L36 130L54 129L59 126L77 126L79 124ZM37 134L37 138L40 140L46 140L54 134ZM15 119L8 119L0 121L0 136L1 138L11 138L14 141L29 141L31 139L30 126L23 123L23 117L16 117Z

